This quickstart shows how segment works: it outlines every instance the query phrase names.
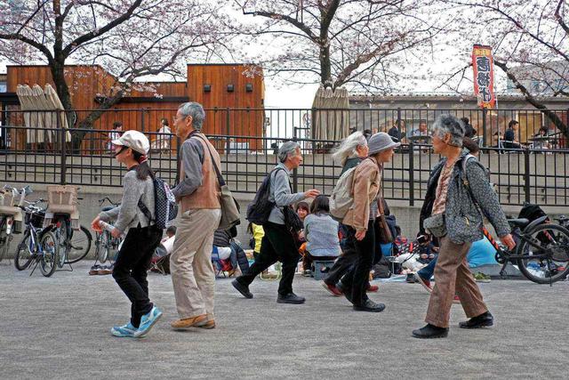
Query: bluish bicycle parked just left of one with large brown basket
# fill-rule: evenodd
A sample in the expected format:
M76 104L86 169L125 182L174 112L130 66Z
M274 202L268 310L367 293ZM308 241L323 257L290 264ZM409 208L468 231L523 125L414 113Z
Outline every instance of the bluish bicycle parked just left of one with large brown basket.
M29 275L34 274L39 265L44 277L50 277L57 268L59 252L51 227L41 227L44 223L45 210L36 205L44 202L44 199L24 202L28 206L20 206L20 208L25 213L26 230L24 239L20 242L14 256L14 266L18 271L24 271L31 263L36 262L36 266Z

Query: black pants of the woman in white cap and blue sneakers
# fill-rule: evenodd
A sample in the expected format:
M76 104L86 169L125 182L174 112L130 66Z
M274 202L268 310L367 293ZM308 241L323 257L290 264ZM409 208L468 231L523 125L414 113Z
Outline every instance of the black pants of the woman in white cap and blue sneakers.
M162 230L156 226L132 228L116 255L113 278L132 303L131 323L134 327L139 327L140 318L152 310L146 278L152 254L161 238Z

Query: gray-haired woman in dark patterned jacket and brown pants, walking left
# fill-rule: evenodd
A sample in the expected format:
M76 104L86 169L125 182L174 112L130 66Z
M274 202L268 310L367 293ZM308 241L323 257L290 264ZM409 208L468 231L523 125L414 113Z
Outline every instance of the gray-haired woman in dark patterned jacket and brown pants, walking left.
M501 241L509 249L516 246L485 167L461 150L464 133L461 120L451 115L441 115L433 127L433 150L443 158L429 177L420 228L422 233L439 239L440 252L435 267L437 283L430 295L425 319L427 325L413 330L413 336L417 338L448 335L455 294L469 317L459 327L493 326L493 316L466 261L472 242L484 237L481 230L483 217L478 207L493 224Z

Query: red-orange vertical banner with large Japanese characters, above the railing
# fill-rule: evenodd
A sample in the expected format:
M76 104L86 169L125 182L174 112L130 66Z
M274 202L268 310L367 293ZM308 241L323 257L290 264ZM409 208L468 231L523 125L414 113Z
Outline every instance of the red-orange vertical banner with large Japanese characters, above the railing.
M474 94L477 96L478 106L483 109L495 108L494 60L491 46L474 45L472 68L474 69Z

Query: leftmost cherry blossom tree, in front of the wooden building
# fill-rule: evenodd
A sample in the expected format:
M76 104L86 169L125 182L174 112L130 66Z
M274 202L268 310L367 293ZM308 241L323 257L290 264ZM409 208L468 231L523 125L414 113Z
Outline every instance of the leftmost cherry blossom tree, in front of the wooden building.
M0 58L47 64L69 110L66 64L97 64L111 73L115 80L99 94L100 109L78 124L88 128L141 77L185 77L186 60L219 54L228 37L221 6L200 0L0 0Z

